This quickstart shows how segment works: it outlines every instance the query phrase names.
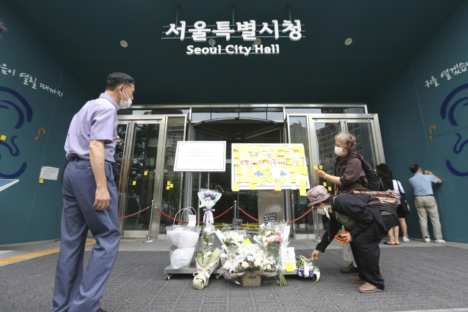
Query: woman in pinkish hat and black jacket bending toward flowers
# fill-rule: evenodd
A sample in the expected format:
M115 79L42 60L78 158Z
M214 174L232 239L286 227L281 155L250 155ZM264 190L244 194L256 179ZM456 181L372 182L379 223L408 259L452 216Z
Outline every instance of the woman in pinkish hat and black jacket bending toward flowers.
M331 196L321 185L310 189L307 197L311 201L309 206L314 206L317 213L327 215L330 220L329 230L322 236L311 258L318 259L344 225L349 233L343 236L348 238L347 243L351 244L359 268L359 273L351 276L350 280L364 283L359 287L360 292L383 291L385 286L379 267L379 242L397 224L395 209L370 195ZM346 221L346 224L340 221Z

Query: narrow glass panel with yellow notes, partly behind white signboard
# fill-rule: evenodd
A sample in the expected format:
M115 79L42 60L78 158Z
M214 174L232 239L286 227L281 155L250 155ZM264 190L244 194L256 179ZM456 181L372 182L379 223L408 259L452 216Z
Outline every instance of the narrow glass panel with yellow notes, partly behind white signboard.
M166 214L174 217L182 208L183 197L182 173L174 172L174 161L176 159L177 141L184 140L183 117L168 117L166 134L166 153L164 157L164 176L162 184L162 202L160 209ZM167 186L169 185L169 190ZM173 187L171 187L171 184ZM178 218L178 217L177 217ZM161 215L159 223L159 234L166 233L166 226L173 223L173 220L165 215Z

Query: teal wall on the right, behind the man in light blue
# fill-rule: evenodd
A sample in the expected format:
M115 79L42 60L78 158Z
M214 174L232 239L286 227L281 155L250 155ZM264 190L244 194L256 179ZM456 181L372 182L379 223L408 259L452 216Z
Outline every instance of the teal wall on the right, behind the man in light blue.
M433 189L444 239L468 243L468 147L464 146L468 142L467 20L468 2L461 1L369 101L369 112L379 114L387 164L408 194L412 212L407 223L412 237L421 237L408 182L412 176L409 166L417 163L442 179ZM460 63L466 71L459 69L455 75L456 68L453 73L450 68ZM441 77L446 69L450 79ZM431 76L438 86L429 84L428 88L426 80ZM432 236L431 227L429 230Z

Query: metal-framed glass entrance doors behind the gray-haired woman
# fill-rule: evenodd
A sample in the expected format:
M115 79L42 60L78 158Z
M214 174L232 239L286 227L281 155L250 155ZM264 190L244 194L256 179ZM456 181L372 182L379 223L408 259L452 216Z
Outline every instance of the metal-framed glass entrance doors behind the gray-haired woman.
M385 162L378 117L375 114L288 114L290 143L303 143L306 156L309 155L309 168L320 167L329 174L334 172L334 136L341 131L356 137L355 153L362 155L375 166ZM324 185L334 194L334 185L309 172L311 185ZM292 192L292 214L297 217L308 211L307 197ZM326 231L327 220L315 211L294 222L296 238L320 239ZM325 226L325 228L324 228Z

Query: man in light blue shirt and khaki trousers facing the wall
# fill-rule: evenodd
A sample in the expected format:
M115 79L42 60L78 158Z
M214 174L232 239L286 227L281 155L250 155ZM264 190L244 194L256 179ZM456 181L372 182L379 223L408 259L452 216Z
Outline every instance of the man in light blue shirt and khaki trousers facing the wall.
M414 174L409 178L409 183L414 189L414 205L419 215L419 226L421 227L421 234L423 234L424 241L430 242L428 232L428 215L432 222L434 229L434 238L436 243L445 243L442 239L442 229L439 221L439 212L437 210L437 202L432 191L431 183L442 183L442 180L434 176L430 171L427 175L423 175L421 168L414 164L409 167L409 170Z

